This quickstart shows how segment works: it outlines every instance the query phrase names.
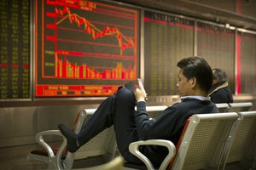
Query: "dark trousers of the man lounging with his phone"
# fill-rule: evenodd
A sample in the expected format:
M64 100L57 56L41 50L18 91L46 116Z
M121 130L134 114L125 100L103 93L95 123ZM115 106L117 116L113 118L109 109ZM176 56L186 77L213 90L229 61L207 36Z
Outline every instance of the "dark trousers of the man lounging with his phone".
M134 110L136 99L128 88L119 88L112 96L99 105L93 116L78 135L79 144L86 144L107 127L114 126L119 151L126 161L141 164L142 161L131 155L129 144L139 140Z

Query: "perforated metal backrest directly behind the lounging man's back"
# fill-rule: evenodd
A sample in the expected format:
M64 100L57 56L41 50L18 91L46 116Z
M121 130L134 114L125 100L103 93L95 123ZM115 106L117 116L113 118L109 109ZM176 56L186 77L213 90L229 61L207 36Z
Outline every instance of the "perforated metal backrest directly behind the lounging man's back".
M169 168L176 170L217 167L220 150L223 149L237 119L235 112L191 116L172 167Z

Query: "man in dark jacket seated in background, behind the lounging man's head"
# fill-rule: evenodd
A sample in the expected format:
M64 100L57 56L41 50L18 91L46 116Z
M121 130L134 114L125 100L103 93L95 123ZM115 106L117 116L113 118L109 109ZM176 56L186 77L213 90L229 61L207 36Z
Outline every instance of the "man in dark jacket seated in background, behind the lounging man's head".
M233 96L225 71L215 68L212 69L212 73L212 88L210 88L208 94L212 102L215 104L233 103Z

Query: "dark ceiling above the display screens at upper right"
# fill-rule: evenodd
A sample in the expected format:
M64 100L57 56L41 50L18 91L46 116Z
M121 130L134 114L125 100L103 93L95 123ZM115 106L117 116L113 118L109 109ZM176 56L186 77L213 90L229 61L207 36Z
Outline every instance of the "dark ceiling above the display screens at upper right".
M253 1L253 0L247 0ZM256 31L256 19L253 16L245 14L237 14L231 10L224 8L218 8L203 4L203 1L189 1L189 0L119 0L119 2L133 4L143 8L154 8L161 11L170 12L172 14L182 14L185 16L193 17L200 20L209 20L218 24L229 24L251 31ZM209 1L208 1L209 2ZM214 2L214 0L212 0ZM221 1L225 3L225 1ZM226 6L228 6L228 1ZM232 3L231 1L229 3ZM236 1L233 1L236 3ZM256 10L256 2L252 5L248 5L247 8L253 8ZM233 4L235 6L237 4ZM243 8L243 11L247 9Z

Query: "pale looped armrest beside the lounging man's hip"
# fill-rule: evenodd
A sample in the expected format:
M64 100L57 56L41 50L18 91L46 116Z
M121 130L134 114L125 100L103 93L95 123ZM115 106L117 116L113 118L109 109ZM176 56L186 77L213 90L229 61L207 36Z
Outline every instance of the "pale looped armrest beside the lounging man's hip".
M131 154L133 154L134 156L137 156L137 158L139 158L141 161L143 161L148 169L154 169L154 166L152 165L151 161L149 161L148 157L144 156L143 153L141 153L138 150L138 147L140 145L166 146L166 148L168 149L169 152L168 152L168 155L166 156L166 158L164 159L164 161L162 161L160 168L159 168L160 170L165 170L166 167L169 165L170 161L172 160L172 158L176 154L176 147L169 140L149 139L149 140L140 140L140 141L131 143L129 145L129 150L130 150Z

